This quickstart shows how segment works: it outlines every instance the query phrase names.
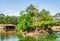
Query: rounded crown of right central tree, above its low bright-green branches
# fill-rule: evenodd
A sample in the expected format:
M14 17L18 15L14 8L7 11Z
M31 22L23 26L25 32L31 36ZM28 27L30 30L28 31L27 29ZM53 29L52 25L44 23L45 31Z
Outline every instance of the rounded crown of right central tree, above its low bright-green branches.
M44 20L44 21L52 21L53 17L50 15L49 11L46 11L45 9L42 9L42 11L40 12L40 17Z

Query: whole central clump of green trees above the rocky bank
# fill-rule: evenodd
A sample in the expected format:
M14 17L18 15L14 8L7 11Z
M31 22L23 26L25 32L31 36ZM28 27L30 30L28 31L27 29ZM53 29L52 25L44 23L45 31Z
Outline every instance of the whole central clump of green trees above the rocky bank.
M41 12L38 11L32 4L26 8L25 11L20 13L18 18L18 29L28 29L37 26L48 27L58 25L58 22L55 21L55 18L50 15L49 11L42 9Z

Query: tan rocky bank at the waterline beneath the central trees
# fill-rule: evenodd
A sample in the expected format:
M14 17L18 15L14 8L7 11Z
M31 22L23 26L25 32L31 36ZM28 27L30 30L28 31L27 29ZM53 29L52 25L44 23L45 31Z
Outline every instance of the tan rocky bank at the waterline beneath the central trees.
M27 31L20 31L20 33L22 33L22 36L25 36L25 37L39 37L39 36L42 36L42 35L47 35L48 32L45 31L45 30L40 30L40 31L32 31L32 32L27 32Z

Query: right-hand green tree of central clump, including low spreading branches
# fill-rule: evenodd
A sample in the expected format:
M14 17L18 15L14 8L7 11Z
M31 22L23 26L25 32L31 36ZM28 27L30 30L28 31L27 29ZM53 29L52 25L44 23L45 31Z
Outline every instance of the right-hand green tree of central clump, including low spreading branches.
M40 17L42 18L42 25L43 29L45 27L50 27L54 25L58 25L57 21L54 20L54 17L50 15L49 11L46 11L45 9L42 9L40 12Z

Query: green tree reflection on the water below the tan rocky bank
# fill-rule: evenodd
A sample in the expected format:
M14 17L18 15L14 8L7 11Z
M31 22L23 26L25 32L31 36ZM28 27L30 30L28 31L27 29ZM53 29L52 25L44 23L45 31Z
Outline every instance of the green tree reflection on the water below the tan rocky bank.
M21 34L18 34L19 41L59 41L57 40L58 36L56 33L46 35L46 36L39 36L38 38L32 37L23 37Z

